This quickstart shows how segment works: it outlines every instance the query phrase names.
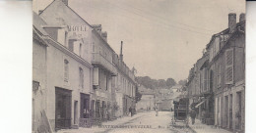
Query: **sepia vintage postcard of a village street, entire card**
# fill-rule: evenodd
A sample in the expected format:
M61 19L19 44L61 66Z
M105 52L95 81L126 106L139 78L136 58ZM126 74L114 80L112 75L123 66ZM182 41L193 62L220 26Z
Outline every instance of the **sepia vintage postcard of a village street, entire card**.
M244 133L244 0L33 0L33 133Z

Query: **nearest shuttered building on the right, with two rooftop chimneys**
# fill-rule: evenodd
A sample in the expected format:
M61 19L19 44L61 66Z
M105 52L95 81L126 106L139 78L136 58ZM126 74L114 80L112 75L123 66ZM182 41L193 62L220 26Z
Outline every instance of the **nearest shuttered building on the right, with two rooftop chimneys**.
M209 70L215 95L215 124L244 132L245 15L239 22L228 15L228 28L215 34L207 45ZM211 73L210 73L211 74ZM210 76L211 77L211 76Z

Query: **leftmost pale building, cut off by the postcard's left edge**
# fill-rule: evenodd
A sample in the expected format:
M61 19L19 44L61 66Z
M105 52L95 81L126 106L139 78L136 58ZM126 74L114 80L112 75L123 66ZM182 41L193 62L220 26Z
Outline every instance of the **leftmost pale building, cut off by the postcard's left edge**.
M32 132L49 132L43 120L46 118L46 49L48 45L42 34L47 33L39 25L45 22L41 21L35 13L33 18L36 21L34 20L32 28Z

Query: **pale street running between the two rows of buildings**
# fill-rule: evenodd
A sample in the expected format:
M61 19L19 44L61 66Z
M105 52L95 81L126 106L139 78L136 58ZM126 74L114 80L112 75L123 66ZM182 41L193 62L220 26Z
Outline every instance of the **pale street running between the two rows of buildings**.
M172 111L138 112L132 117L122 117L113 121L103 122L101 126L59 130L57 133L193 133L189 128L171 125Z

